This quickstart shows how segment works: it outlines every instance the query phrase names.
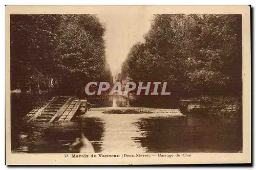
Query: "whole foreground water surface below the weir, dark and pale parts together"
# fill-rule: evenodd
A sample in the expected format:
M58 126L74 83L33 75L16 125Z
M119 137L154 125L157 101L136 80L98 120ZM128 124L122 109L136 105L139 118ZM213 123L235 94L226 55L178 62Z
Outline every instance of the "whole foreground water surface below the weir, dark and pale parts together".
M102 111L92 110L68 123L12 125L12 151L68 153L63 144L72 142L81 132L95 151L102 153L242 151L242 123L237 118Z

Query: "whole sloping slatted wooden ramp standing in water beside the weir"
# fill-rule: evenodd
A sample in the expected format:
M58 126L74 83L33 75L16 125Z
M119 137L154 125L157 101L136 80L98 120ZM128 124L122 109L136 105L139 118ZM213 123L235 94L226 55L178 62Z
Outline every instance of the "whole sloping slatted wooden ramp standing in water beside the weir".
M56 96L39 107L31 110L25 119L28 123L66 122L71 120L79 111L86 111L86 100L74 100L71 96Z

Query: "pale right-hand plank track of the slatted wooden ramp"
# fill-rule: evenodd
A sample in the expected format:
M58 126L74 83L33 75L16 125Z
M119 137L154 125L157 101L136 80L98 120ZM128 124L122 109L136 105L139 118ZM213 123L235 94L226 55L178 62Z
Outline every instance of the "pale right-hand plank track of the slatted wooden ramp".
M72 117L75 115L76 111L79 109L81 103L82 102L78 100L72 101L69 107L60 116L58 121L61 121L61 122L70 121Z

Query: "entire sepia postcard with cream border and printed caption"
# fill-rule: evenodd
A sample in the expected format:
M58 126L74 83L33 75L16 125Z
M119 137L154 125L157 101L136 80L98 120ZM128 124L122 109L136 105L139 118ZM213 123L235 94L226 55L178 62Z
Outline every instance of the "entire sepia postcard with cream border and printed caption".
M250 6L6 6L6 164L251 163Z

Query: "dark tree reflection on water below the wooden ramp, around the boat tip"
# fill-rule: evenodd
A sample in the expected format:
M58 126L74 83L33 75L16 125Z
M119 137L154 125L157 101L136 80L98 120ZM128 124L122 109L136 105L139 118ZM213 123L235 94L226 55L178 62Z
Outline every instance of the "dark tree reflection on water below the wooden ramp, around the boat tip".
M83 132L101 152L103 123L99 118L79 118L73 122L50 125L12 126L12 151L25 153L69 153L68 145Z

